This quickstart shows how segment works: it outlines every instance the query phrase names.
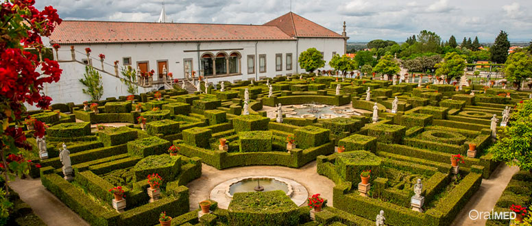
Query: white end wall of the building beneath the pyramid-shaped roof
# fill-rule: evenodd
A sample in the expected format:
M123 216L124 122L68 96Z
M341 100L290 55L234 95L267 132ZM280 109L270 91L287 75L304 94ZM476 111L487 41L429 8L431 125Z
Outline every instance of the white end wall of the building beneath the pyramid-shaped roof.
M333 51L343 55L343 38L300 38L298 42L298 56L310 48L316 48L317 51L324 52L325 66L322 69L325 70L333 69L329 66L329 61L333 58ZM304 72L304 68L299 68L299 73Z

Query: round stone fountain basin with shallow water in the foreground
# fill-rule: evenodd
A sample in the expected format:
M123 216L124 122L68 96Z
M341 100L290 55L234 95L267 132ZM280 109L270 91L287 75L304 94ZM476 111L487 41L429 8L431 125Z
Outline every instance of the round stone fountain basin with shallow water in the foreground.
M282 190L295 203L301 206L306 203L309 197L309 192L304 186L296 181L283 177L269 177L269 176L251 176L251 177L237 177L224 181L218 184L210 191L210 199L218 202L218 207L227 209L231 202L232 195L237 192L255 192L254 188L257 186L257 179L259 179L264 191Z

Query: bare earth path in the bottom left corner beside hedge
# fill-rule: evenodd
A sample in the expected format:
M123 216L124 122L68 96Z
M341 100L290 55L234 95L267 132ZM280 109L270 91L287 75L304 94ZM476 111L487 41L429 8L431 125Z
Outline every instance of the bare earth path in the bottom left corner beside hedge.
M16 179L10 183L10 188L19 193L22 201L31 206L35 214L47 225L89 226L83 218L46 190L43 184L40 184L40 178Z

